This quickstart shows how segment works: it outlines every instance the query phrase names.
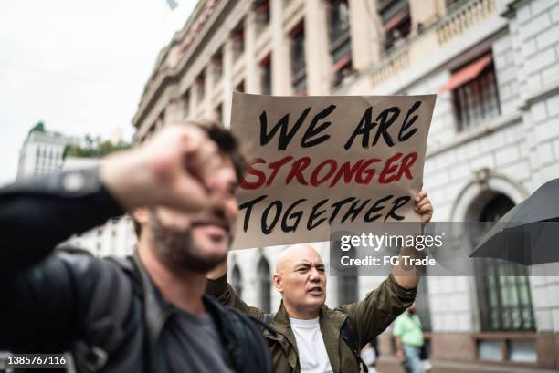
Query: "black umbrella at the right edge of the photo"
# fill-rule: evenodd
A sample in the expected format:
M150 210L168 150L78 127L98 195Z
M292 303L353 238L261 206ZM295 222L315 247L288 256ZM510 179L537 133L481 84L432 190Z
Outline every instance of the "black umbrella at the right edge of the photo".
M559 262L559 179L543 184L507 212L469 257L520 264Z

